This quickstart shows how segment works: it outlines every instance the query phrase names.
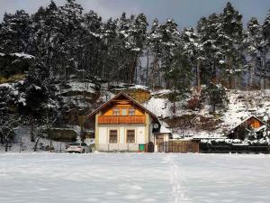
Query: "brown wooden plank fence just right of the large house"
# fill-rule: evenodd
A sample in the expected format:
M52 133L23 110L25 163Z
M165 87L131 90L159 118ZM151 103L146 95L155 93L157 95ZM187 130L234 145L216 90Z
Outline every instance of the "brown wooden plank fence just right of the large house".
M199 143L193 141L168 141L157 145L157 152L199 152Z

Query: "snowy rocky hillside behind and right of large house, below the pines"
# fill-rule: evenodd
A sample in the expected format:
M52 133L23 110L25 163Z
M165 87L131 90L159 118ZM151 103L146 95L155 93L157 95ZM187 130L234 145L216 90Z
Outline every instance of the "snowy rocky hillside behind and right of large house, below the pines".
M148 100L142 103L148 110L159 117L167 124L175 134L184 136L222 136L233 126L247 118L249 115L256 115L268 122L270 113L270 91L242 91L227 90L228 104L223 108L218 108L213 114L211 106L204 101L201 108L192 110L187 107L188 98L176 102L176 112L173 114L173 103L168 99L171 93L169 89L150 90L144 86L129 86L127 84L118 84L122 91L129 93L130 89L147 90L150 94ZM108 84L102 84L103 102L106 96L114 96L114 89L107 90ZM127 88L129 87L129 88ZM132 95L131 95L132 96Z

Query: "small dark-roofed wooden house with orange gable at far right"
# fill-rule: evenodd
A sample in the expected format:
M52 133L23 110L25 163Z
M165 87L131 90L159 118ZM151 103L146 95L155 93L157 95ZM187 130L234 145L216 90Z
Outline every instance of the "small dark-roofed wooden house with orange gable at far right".
M249 134L251 131L259 133L261 130L264 130L267 127L268 125L266 122L260 120L254 115L251 115L240 124L230 129L226 135L229 139L245 140L245 138L247 138L247 134Z

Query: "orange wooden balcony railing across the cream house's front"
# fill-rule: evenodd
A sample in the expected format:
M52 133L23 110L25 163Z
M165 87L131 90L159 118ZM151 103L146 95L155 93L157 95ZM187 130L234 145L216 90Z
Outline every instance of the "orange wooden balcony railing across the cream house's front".
M145 124L145 116L141 115L99 115L99 125L137 125Z

